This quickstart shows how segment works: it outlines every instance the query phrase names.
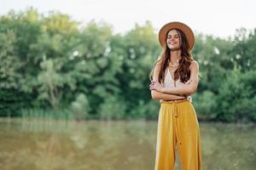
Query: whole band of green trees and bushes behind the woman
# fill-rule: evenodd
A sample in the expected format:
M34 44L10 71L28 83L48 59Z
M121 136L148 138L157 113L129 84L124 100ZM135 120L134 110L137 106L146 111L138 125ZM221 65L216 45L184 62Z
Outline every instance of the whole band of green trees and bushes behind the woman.
M195 39L199 119L256 122L256 29ZM0 116L156 120L148 76L159 54L149 21L120 35L105 22L10 11L0 16Z

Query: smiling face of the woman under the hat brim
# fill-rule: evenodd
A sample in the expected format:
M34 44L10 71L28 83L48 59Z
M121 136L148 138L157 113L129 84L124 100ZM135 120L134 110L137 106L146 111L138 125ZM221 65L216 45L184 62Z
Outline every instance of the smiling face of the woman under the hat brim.
M167 34L166 38L167 47L172 51L180 49L180 37L177 33L177 30L171 30Z

